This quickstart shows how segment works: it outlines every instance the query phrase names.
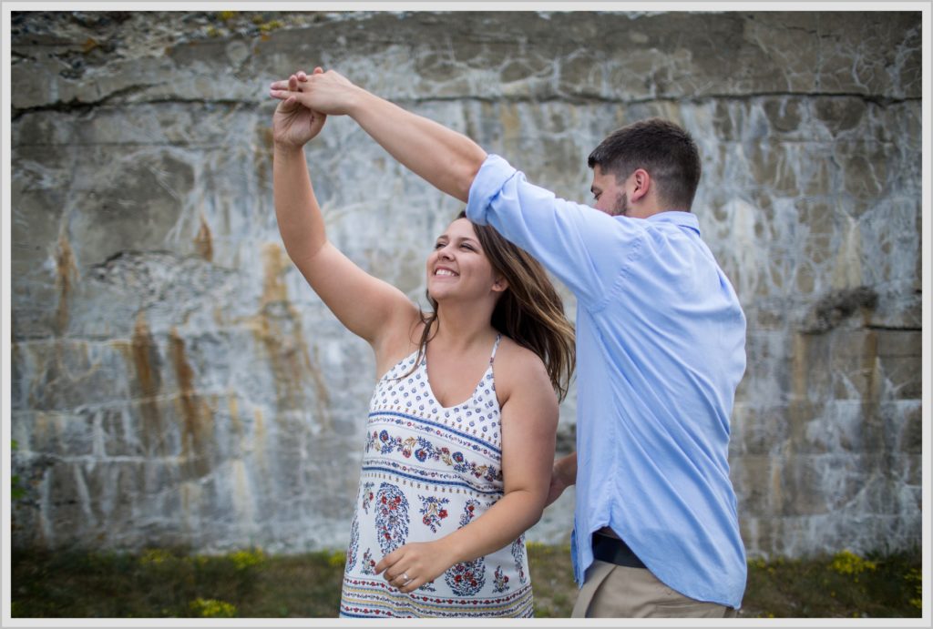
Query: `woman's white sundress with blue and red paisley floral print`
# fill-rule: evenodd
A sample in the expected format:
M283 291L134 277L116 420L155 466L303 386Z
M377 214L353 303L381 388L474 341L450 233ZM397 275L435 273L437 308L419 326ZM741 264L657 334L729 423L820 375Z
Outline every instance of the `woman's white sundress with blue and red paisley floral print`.
M493 361L466 402L434 397L418 352L376 384L343 574L343 618L531 618L524 535L504 548L456 564L411 594L374 567L398 547L430 541L480 517L503 496L500 409ZM408 374L406 376L406 374ZM404 377L400 377L404 376Z

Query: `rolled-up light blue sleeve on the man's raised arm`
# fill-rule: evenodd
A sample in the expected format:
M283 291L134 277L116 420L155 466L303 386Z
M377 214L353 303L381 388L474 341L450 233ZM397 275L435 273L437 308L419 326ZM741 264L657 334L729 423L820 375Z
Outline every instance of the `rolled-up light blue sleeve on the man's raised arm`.
M494 154L470 186L466 217L494 226L531 253L588 308L606 303L644 235L633 219L609 216L529 184L522 171Z

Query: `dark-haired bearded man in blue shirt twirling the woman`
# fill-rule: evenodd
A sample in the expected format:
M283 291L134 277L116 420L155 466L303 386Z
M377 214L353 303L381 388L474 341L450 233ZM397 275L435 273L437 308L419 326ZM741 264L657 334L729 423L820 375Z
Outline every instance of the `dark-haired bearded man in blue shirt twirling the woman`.
M589 158L594 212L333 71L297 78L271 95L352 116L576 295L577 452L555 463L549 497L577 485L574 616L734 616L746 567L729 422L745 315L689 212L689 135L653 118L608 136Z

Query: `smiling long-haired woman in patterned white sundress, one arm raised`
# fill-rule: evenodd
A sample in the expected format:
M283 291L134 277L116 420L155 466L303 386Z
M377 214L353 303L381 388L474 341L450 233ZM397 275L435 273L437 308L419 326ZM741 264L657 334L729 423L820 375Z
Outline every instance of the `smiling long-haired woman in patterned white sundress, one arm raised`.
M289 78L295 92L298 78ZM285 249L381 375L343 577L343 617L530 617L523 532L544 509L573 329L542 267L463 214L427 258L424 313L325 234L303 146L325 116L273 116Z

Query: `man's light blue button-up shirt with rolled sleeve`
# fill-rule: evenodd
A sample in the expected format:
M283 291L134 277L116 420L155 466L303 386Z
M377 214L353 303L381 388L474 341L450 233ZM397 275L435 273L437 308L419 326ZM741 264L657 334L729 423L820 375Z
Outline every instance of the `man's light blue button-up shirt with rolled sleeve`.
M527 183L494 155L466 214L577 297L578 583L592 532L610 526L672 589L739 608L745 546L728 453L745 315L696 216L609 216Z

